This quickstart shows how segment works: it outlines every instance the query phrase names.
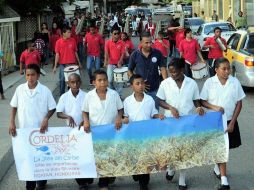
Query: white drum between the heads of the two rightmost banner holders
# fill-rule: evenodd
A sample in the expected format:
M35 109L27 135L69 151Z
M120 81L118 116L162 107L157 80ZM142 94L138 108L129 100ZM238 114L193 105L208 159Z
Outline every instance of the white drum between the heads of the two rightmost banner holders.
M191 66L191 72L194 79L203 79L208 76L207 64L197 62Z

